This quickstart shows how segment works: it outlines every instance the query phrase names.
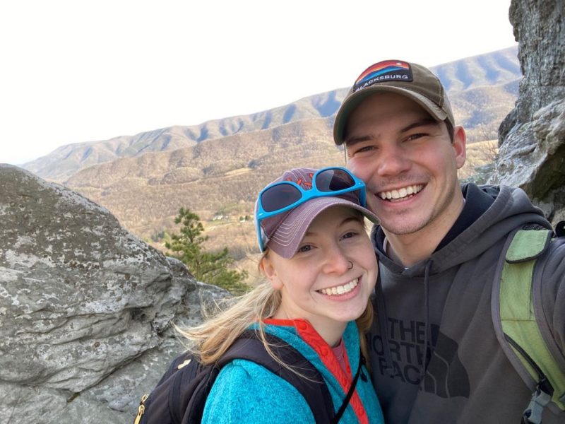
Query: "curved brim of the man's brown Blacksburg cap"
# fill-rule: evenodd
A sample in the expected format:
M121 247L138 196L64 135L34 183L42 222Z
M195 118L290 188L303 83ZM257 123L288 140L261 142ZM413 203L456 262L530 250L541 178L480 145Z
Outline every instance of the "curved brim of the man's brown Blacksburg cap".
M429 112L429 114L431 114L437 121L444 121L448 117L446 112L441 110L438 105L420 93L396 86L371 86L363 88L362 90L357 91L357 93L353 93L342 103L340 110L338 110L338 114L335 115L335 124L333 124L333 141L335 144L340 146L345 142L345 126L350 113L353 112L353 110L355 110L355 108L370 95L385 91L388 91L389 93L398 93L414 100L418 103L418 105L422 106L424 110L427 110L427 112Z

